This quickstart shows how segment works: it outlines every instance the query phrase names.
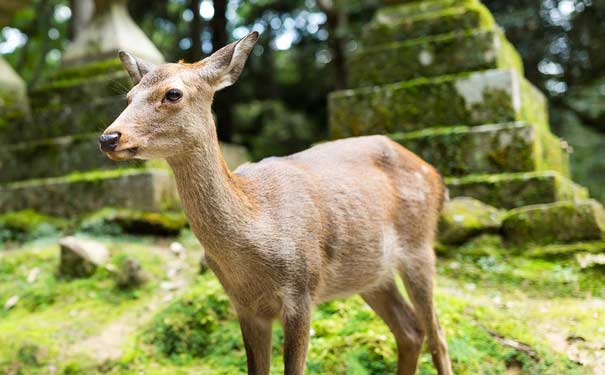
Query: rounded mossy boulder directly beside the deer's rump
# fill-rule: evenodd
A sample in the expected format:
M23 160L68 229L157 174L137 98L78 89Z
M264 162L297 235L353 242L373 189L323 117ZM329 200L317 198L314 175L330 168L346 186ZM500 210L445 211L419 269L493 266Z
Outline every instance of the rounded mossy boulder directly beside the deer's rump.
M445 202L439 221L438 239L460 244L481 233L498 231L503 211L468 197Z

